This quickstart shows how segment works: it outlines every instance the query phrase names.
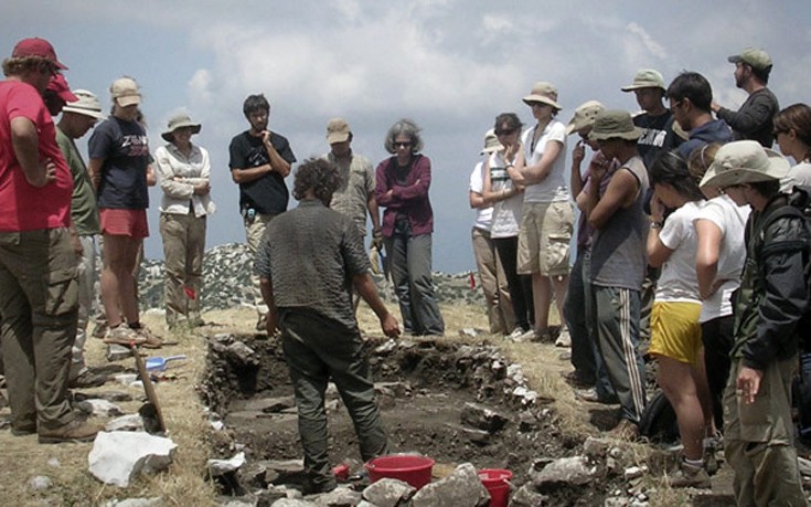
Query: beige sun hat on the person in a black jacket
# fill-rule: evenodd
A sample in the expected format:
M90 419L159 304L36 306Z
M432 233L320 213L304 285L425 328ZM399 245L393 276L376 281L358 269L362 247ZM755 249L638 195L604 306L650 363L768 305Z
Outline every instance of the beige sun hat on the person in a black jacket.
M789 173L789 161L777 151L754 140L727 142L715 154L700 187L724 188L733 184L779 180Z

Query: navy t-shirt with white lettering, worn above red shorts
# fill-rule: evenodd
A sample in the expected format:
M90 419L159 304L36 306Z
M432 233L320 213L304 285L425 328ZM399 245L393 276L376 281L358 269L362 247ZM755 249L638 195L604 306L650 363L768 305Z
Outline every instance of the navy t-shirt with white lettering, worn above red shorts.
M149 208L149 144L147 133L138 122L110 116L93 130L87 152L92 159L104 159L98 186L99 208Z

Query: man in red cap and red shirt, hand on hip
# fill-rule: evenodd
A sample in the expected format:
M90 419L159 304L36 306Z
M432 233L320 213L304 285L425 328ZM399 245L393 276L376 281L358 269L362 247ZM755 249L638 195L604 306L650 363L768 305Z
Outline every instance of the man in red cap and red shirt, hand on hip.
M73 179L42 94L66 70L44 39L24 39L0 82L0 318L15 435L89 441L98 431L67 398L78 310Z

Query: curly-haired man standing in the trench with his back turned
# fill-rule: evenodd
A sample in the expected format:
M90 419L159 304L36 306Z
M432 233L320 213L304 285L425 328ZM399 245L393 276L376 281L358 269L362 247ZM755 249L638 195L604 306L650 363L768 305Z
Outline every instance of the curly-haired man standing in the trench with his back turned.
M310 480L306 493L335 488L327 456L324 391L329 380L352 418L363 460L388 452L352 308L353 287L377 315L386 336L397 337L399 327L377 295L358 228L329 209L339 186L334 166L312 158L305 161L294 182L299 207L268 224L256 252L255 271L269 308L267 331L271 336L277 328L281 330L296 393ZM273 241L279 237L284 241Z

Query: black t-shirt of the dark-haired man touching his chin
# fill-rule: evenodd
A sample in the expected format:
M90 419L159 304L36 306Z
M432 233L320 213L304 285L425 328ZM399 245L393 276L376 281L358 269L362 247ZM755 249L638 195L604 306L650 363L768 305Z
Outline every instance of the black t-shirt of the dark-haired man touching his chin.
M296 162L290 142L276 133L270 133L270 142L281 158L289 163ZM248 130L231 140L228 148L231 160L228 167L234 169L250 169L270 163L262 137L252 136ZM239 183L239 210L253 208L260 214L278 214L287 210L290 192L285 184L285 178L276 171L270 171L254 181Z

